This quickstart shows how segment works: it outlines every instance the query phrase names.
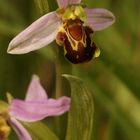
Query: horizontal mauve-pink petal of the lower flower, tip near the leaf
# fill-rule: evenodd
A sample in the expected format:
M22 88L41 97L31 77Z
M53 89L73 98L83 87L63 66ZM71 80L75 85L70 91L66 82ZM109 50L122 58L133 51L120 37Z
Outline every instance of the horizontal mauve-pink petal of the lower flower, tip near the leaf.
M58 116L70 108L70 98L49 99L44 102L13 100L9 113L18 120L33 122L48 116Z

